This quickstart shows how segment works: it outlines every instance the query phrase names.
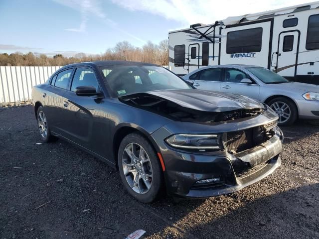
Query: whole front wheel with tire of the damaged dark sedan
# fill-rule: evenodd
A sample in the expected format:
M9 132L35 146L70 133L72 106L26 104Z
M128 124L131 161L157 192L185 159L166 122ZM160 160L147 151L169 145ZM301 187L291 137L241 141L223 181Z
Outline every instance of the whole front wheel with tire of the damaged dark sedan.
M137 200L151 203L159 198L163 174L156 152L139 133L125 136L118 152L121 180L126 190Z

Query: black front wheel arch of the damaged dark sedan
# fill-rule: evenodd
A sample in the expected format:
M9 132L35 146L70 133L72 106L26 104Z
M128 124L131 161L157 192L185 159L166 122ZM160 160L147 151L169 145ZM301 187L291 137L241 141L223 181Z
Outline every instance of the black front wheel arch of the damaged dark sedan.
M114 161L115 161L117 169L118 169L118 152L119 152L120 144L122 142L122 139L130 133L139 133L139 134L143 135L150 142L154 151L156 153L160 152L159 147L157 146L157 144L155 143L155 141L151 137L150 133L148 133L144 128L141 128L137 125L131 125L131 124L122 125L120 128L118 128L115 131L114 137L113 137L113 145L112 145Z

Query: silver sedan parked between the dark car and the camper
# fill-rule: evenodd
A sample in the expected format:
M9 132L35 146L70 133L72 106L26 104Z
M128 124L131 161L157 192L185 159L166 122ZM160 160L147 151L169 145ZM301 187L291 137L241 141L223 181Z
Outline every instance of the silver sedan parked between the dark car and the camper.
M319 85L291 82L259 66L207 66L185 76L197 89L241 94L269 105L279 125L296 119L319 119Z

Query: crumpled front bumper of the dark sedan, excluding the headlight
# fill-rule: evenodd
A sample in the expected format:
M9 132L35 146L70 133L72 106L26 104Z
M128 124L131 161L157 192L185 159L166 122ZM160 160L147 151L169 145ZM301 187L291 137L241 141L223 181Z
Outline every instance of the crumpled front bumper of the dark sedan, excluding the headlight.
M166 125L151 135L160 146L168 193L189 198L228 194L265 178L281 165L283 132L272 112L206 125L205 129L197 127L196 131L192 124L186 125ZM165 142L171 134L185 130L190 134L222 134L223 148L196 151Z

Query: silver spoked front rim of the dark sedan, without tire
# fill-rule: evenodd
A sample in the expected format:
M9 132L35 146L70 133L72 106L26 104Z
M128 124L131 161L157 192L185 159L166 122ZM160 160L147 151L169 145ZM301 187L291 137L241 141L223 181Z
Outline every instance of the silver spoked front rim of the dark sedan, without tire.
M126 145L122 156L122 167L126 181L138 194L150 191L153 169L149 155L138 143Z

